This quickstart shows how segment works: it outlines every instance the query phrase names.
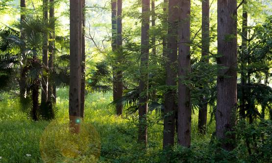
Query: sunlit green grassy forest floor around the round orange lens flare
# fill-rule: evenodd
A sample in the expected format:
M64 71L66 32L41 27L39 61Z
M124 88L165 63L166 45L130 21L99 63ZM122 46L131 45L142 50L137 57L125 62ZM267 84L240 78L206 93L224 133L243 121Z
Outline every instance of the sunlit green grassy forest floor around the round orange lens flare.
M59 89L57 96L57 119L67 121L68 89ZM0 163L42 163L44 158L40 152L40 141L50 122L27 120L26 116L16 109L16 98L8 93L0 94L0 97ZM115 116L114 108L109 105L111 101L111 94L95 93L86 96L84 122L93 125L99 133L101 149L98 162L163 162L163 121L160 116L152 113L149 117L148 150L144 151L137 144L137 117ZM214 123L209 124L208 134L199 136L197 122L197 115L194 114L192 147L196 150L209 144L215 126Z

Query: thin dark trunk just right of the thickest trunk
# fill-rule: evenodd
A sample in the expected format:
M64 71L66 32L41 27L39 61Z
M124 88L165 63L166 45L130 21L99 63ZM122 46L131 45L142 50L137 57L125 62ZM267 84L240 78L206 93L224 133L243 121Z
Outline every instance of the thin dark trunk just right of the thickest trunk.
M246 5L247 0L243 3L243 20L242 20L242 52L241 52L241 84L242 84L242 98L240 106L240 117L246 118L246 97L245 97L245 84L247 83L247 74L245 72L245 67L247 65L247 11Z

